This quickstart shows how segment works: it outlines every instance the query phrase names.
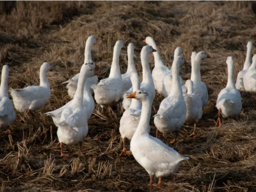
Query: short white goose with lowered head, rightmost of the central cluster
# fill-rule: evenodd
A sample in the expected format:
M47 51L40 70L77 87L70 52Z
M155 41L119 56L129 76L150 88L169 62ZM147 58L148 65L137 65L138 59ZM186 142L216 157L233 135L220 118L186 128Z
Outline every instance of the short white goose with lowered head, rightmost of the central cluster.
M194 131L189 137L196 134L196 123L202 118L202 101L201 98L193 92L193 81L188 79L185 84L187 93L183 97L187 106L186 124L194 124Z

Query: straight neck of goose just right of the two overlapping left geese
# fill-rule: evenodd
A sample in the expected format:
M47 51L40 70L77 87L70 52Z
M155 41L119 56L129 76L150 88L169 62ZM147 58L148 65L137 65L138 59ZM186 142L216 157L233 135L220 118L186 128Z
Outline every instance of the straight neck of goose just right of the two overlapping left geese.
M110 69L110 74L108 78L113 78L113 77L122 77L121 76L121 71L120 71L120 66L119 66L119 55L120 55L121 49L118 48L118 46L115 45L114 48L114 53L113 53L113 62L111 65Z

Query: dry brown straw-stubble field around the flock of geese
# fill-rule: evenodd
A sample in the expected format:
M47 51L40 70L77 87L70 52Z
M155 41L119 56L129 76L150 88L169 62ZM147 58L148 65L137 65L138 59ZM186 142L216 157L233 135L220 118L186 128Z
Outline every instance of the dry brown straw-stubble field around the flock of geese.
M256 191L256 94L243 93L243 112L225 119L215 128L219 91L226 87L226 59L235 62L235 78L243 68L247 41L256 42L256 15L251 2L222 1L17 1L7 12L1 7L0 60L9 65L9 88L39 84L39 69L50 62L51 99L29 115L25 123L16 112L10 133L0 134L0 191ZM79 145L65 146L69 157L60 157L57 127L43 115L70 101L62 82L79 73L87 37L98 39L93 60L108 76L113 46L123 40L121 72L127 68L127 45L135 46L135 65L141 74L142 41L151 36L163 62L171 66L174 49L180 46L190 63L191 52L206 51L212 59L202 61L202 81L209 101L199 121L196 136L188 138L193 126L183 126L182 143L176 150L190 158L175 176L164 177L159 187L149 186L149 175L135 159L119 158L121 107L101 114L99 106L88 121L84 151ZM256 49L254 48L254 54ZM154 68L154 58L149 64ZM183 65L180 76L189 79L191 68ZM163 97L156 95L152 116ZM155 136L151 118L151 135ZM169 146L174 135L160 135ZM129 143L127 142L129 150Z

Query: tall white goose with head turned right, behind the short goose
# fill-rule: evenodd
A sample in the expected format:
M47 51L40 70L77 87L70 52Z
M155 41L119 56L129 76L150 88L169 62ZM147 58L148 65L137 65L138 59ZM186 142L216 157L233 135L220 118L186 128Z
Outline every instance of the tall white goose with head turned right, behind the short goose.
M206 58L212 58L207 55L206 52L192 52L191 54L191 80L193 81L193 91L194 94L197 94L201 97L202 107L204 107L208 102L208 90L206 85L202 82L200 66L201 61ZM182 86L183 94L186 93L185 85Z

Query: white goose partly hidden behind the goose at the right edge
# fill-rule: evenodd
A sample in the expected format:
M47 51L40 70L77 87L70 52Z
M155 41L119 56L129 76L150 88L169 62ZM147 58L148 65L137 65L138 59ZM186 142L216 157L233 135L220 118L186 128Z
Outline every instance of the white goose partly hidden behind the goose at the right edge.
M244 74L246 74L247 70L249 69L249 67L251 66L252 63L252 49L253 49L253 44L251 41L249 41L247 43L247 53L246 53L246 60L244 62L244 68L242 71L240 71L237 74L237 78L236 78L236 84L235 87L237 90L243 90L244 91L244 83L243 83L243 77Z

